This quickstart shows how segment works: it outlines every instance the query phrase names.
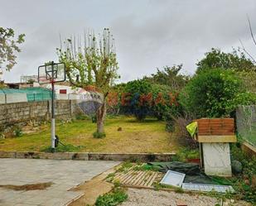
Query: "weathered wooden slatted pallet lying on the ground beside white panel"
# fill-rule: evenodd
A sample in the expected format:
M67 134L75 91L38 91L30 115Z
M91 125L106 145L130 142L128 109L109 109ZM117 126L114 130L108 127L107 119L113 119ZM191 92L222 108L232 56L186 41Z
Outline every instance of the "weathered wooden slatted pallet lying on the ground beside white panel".
M157 171L128 170L127 173L118 173L114 176L114 180L118 180L120 184L148 188L151 188L155 181L161 179L162 173Z

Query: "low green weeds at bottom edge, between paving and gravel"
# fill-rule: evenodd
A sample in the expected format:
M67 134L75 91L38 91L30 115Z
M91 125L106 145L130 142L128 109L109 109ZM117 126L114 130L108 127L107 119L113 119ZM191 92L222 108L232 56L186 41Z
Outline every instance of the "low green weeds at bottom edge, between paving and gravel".
M112 192L100 195L96 199L95 206L115 206L128 199L126 191L120 187L115 187Z

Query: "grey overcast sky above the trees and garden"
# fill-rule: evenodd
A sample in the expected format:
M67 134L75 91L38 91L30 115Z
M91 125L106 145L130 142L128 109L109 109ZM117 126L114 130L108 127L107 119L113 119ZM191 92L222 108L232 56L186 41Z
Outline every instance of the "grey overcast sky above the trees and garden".
M256 34L255 0L0 0L0 26L25 33L17 65L6 82L36 74L38 65L57 61L59 34L84 29L112 31L121 81L152 74L165 65L183 64L193 74L211 47L237 48L239 39L256 55L246 15Z

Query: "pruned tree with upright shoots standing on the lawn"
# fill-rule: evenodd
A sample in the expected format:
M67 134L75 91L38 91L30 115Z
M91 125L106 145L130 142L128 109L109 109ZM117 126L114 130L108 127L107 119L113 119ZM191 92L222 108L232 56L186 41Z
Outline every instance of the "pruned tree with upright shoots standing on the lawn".
M97 111L97 132L103 133L106 98L114 80L118 79L114 38L109 29L104 28L99 39L94 32L85 32L83 37L65 39L61 41L57 54L59 60L66 65L70 84L84 89L90 86L104 94L104 103Z

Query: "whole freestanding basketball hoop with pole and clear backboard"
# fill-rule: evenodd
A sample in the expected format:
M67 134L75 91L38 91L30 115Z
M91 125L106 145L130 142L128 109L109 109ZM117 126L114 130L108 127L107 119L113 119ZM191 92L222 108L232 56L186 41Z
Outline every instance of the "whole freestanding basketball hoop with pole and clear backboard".
M38 83L51 84L51 151L56 150L56 121L54 108L54 84L65 81L65 64L54 63L38 67Z

